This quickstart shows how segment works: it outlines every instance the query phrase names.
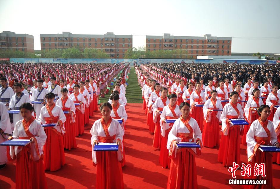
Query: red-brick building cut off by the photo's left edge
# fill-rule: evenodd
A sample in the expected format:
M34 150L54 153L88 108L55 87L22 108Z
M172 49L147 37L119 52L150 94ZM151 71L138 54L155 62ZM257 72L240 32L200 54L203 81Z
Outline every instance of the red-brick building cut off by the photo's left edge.
M34 52L33 35L16 34L15 32L3 31L0 33L0 50Z

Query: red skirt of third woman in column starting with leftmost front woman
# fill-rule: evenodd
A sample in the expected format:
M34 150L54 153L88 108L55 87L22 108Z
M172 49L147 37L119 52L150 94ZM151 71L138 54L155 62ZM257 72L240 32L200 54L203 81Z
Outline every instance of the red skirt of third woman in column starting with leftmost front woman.
M71 150L71 148L77 148L75 131L76 123L70 123L71 116L66 115L66 121L64 122L65 126L65 135L63 136L63 145L64 148Z

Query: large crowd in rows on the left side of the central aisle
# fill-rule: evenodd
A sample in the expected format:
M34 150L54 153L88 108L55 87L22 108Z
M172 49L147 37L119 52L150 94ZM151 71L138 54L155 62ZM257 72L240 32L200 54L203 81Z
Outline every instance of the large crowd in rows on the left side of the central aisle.
M93 146L104 141L123 144L129 65L8 63L1 68L0 143L7 139L32 140L24 147L10 146L8 151L6 146L0 146L0 169L8 159L16 160L16 188L47 188L45 171L57 171L65 165L64 149L77 147L75 137L83 135L89 117L98 110L99 96L104 98L108 93L107 86L113 80L115 86L108 99L110 103L100 106L103 116L91 129L91 143ZM7 110L19 110L20 113L8 114ZM122 124L114 119L122 119ZM55 126L43 127L45 124ZM111 135L116 130L118 134ZM110 165L104 167L103 160L111 158L118 162L123 159L124 165L124 150L121 151L121 159L108 153L93 152L97 172L115 174ZM118 170L122 171L121 167ZM107 178L99 175L97 188L107 183Z

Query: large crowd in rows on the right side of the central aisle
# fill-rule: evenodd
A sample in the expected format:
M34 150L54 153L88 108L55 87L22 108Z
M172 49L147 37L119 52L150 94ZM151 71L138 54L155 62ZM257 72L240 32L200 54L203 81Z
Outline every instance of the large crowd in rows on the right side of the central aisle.
M267 185L262 187L272 188L272 162L280 164L280 154L257 149L279 148L279 65L142 64L136 74L153 147L160 149L160 165L170 169L167 188L197 188L195 154L202 147L219 147L217 161L226 168L240 165L240 135L252 173L255 163L265 163ZM249 125L233 126L235 118ZM178 148L180 142L201 148Z

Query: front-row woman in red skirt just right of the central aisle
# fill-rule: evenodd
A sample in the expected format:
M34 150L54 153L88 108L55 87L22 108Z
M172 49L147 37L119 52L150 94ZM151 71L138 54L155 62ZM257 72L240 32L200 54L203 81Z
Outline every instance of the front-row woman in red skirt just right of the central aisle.
M168 135L167 148L171 158L167 188L197 188L195 155L200 148L178 148L180 142L195 142L202 147L202 134L195 119L190 116L190 105L182 102L179 107L182 115L172 126Z

